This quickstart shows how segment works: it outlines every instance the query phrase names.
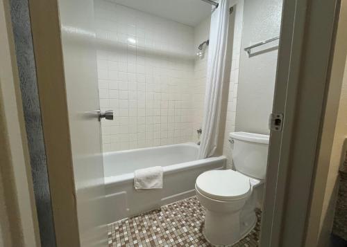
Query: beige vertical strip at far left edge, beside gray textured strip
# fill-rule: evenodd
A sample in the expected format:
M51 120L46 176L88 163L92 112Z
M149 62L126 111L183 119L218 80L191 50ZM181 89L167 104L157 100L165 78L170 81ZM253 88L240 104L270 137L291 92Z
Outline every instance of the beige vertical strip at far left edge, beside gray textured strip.
M6 0L0 0L0 33L0 246L39 247L22 95Z

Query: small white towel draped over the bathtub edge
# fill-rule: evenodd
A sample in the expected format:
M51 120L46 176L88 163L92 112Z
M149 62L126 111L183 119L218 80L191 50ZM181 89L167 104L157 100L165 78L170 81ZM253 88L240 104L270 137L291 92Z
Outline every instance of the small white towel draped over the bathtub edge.
M162 189L162 167L155 166L135 170L134 187L136 190Z

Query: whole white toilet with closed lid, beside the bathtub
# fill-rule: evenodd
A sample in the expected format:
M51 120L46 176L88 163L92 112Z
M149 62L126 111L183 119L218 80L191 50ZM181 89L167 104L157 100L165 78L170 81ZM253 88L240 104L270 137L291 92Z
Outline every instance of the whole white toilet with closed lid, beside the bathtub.
M266 177L269 136L232 132L234 170L211 170L196 179L196 196L205 208L203 235L213 246L232 246L257 223L256 188Z

